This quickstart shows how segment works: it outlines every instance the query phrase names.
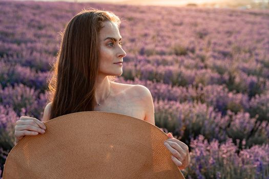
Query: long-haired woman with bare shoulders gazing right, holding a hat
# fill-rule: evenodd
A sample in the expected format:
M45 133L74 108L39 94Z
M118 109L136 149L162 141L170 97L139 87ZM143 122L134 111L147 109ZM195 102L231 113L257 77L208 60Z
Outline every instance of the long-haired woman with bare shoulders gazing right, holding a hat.
M108 111L132 116L155 125L151 93L142 85L116 83L111 76L122 74L123 57L120 19L112 12L84 10L68 23L49 83L50 103L43 122L78 111ZM15 126L15 143L24 136L45 133L36 118L20 117ZM44 129L44 130L43 130ZM172 160L184 169L190 163L188 146L173 138L165 146Z

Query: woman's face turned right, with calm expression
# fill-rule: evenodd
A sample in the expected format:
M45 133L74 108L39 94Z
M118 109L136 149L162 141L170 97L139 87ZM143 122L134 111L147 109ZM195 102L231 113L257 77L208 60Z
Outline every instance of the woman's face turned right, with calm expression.
M123 57L126 52L121 48L121 36L117 26L111 21L102 23L99 32L100 67L99 74L105 76L120 76L122 74Z

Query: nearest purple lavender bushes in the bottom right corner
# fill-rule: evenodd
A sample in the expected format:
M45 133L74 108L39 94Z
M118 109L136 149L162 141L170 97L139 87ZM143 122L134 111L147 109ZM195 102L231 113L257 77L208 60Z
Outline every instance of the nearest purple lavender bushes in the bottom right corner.
M269 145L238 150L232 139L220 144L202 135L191 141L191 164L183 170L187 178L268 178Z

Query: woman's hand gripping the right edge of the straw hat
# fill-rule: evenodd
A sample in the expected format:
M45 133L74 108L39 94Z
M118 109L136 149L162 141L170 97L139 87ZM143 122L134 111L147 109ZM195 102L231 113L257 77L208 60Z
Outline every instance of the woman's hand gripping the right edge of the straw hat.
M164 142L168 144L164 146L167 147L167 149L172 153L172 160L176 166L180 170L185 169L191 161L188 145L175 139L170 132L167 136L169 139L165 140Z

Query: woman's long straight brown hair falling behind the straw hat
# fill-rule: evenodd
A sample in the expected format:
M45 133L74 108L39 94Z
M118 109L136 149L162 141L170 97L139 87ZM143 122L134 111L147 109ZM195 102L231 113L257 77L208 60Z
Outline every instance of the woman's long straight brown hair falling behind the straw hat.
M50 119L94 110L99 69L99 31L102 22L120 19L113 12L82 10L67 24L49 81Z

